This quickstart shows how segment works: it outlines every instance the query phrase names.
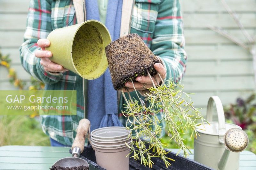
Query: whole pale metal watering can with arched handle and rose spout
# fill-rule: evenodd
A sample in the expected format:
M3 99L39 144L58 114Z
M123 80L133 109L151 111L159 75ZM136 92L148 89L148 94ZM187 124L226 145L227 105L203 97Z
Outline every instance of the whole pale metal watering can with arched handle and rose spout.
M218 122L212 122L214 102ZM203 123L196 129L200 136L194 141L194 160L218 170L238 170L239 152L247 147L248 137L240 126L225 123L223 107L218 96L210 97L206 120L210 125Z

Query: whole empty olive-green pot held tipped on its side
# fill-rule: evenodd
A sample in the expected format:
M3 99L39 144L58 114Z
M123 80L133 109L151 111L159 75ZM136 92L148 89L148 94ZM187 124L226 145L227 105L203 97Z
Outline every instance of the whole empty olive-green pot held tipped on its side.
M105 47L111 36L104 24L88 20L53 30L47 37L52 52L50 60L85 79L99 78L107 69Z

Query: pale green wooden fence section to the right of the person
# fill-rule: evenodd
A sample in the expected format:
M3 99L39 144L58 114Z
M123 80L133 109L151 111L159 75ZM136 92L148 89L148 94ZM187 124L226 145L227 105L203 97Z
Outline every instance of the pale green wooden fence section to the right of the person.
M182 0L188 67L182 82L193 96L197 107L206 107L212 95L220 97L223 104L234 102L237 97L246 97L255 90L252 56L208 29L220 26L236 38L245 41L220 0ZM255 0L226 0L235 11L250 35L255 35ZM202 111L206 112L206 109Z

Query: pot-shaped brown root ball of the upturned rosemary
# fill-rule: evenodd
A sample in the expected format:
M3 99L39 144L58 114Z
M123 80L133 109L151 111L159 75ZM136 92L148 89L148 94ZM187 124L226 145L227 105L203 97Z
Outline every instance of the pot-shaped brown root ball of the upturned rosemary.
M147 76L147 70L155 75L154 64L163 64L136 33L111 42L105 52L115 90L122 89L126 82L135 81L138 76Z

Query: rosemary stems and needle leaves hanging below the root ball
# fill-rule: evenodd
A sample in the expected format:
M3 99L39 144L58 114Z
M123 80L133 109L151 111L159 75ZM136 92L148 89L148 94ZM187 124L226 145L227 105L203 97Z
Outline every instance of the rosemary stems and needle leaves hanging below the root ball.
M161 78L160 74L158 73ZM149 106L146 107L144 101L140 99L134 85L134 90L140 99L140 102L132 99L130 93L128 92L129 99L127 99L122 91L124 100L126 101L125 110L123 115L127 118L126 128L132 130L135 135L131 135L132 143L130 154L131 158L140 159L141 164L149 166L152 168L153 157L160 157L166 165L170 166L171 163L168 160L172 160L166 157L166 152L164 150L165 144L158 138L161 134L161 122L165 122L167 126L168 135L172 137L170 140L174 139L180 146L180 151L184 152L184 157L188 156L188 147L184 144L184 139L182 134L187 129L191 129L190 137L194 135L196 138L198 133L196 132L196 123L199 121L204 122L203 116L200 112L193 107L190 102L190 97L188 94L183 92L183 87L181 85L176 85L172 81L168 81L166 84L161 78L162 84L155 85L151 75L148 72L153 87L148 89L146 93ZM132 82L133 84L133 82ZM156 116L159 114L160 110L163 110L163 115L159 120ZM152 128L154 126L154 128ZM143 140L141 139L143 138ZM146 147L146 144L149 147ZM177 154L179 154L179 152ZM190 152L190 151L189 151Z

